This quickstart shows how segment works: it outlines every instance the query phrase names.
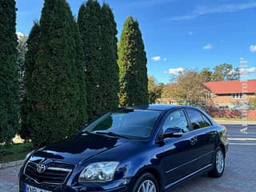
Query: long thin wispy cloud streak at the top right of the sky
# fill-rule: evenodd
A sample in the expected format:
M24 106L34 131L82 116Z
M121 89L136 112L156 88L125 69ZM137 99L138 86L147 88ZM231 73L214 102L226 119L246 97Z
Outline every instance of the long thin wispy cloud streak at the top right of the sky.
M231 13L231 12L237 12L241 10L247 10L252 9L256 7L256 2L250 1L250 2L243 2L243 3L230 3L226 5L221 6L198 6L196 7L192 13L185 14L181 16L174 16L170 18L170 21L182 21L182 20L189 20L193 18L198 18L201 15L204 14L218 14L218 13Z

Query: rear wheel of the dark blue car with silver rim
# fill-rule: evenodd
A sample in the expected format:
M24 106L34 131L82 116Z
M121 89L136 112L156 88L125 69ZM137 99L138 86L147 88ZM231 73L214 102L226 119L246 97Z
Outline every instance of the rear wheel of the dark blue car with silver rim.
M214 155L214 167L208 172L212 178L220 178L225 168L225 154L222 148L218 147Z

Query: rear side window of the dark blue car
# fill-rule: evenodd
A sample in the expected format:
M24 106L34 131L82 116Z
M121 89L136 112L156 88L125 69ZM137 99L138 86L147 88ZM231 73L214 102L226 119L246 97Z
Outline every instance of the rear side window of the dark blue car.
M197 130L206 126L211 126L208 118L206 118L206 116L198 110L186 110L186 112L190 118L193 130Z

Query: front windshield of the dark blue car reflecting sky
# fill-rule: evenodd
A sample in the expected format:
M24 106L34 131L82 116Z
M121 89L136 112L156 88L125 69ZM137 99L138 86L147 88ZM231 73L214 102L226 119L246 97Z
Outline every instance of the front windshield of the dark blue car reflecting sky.
M90 123L82 132L149 138L160 114L157 110L114 110Z

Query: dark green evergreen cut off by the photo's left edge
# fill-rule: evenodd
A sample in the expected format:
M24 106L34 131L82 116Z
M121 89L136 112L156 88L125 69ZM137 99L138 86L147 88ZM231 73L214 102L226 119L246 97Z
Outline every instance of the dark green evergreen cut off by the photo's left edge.
M18 131L19 84L14 0L0 1L0 143L11 142Z

